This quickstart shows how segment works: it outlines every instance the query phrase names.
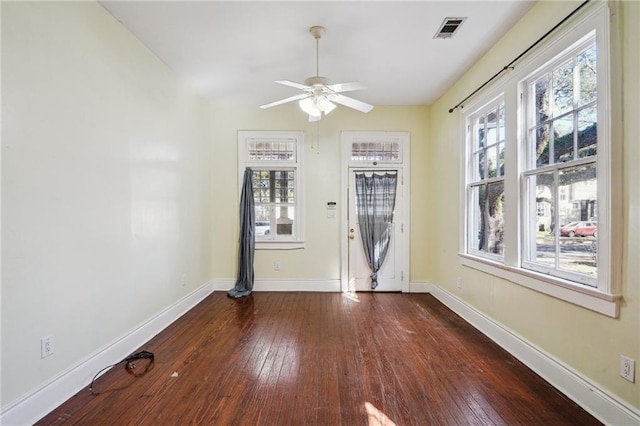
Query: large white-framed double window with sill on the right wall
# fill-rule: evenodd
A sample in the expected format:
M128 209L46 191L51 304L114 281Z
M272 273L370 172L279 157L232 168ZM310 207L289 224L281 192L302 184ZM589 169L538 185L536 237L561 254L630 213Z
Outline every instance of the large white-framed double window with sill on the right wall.
M617 316L608 23L586 7L465 105L460 259Z

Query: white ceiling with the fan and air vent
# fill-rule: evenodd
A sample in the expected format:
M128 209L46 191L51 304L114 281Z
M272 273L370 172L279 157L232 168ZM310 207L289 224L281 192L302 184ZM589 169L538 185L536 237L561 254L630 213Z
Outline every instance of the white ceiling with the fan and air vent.
M316 71L309 27L322 25L320 75L359 81L349 96L374 105L428 105L533 5L533 1L102 1L201 96L260 105L299 93ZM434 39L446 17L466 17ZM496 64L496 72L505 64ZM489 76L487 76L489 77Z

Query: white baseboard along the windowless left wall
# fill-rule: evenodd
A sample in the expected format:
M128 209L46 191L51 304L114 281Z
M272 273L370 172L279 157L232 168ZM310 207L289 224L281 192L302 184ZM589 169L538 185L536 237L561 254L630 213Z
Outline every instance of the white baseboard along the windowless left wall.
M54 377L25 397L9 404L0 413L0 424L31 425L40 420L78 391L87 387L101 368L125 358L200 303L211 292L213 292L213 283L209 281L168 306L146 323Z

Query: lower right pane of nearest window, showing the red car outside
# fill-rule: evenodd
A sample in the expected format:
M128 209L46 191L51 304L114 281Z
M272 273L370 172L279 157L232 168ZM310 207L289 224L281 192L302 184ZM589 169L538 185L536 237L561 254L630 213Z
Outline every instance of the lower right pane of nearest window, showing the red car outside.
M596 276L597 267L597 185L596 166L587 164L559 171L561 193L569 194L559 203L560 268Z

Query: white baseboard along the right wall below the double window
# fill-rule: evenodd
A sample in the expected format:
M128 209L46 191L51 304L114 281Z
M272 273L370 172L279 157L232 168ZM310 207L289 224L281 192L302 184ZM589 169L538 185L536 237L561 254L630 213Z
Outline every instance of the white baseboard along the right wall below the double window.
M640 425L640 412L435 284L429 292L527 367L607 425Z

